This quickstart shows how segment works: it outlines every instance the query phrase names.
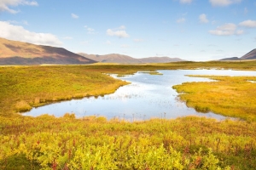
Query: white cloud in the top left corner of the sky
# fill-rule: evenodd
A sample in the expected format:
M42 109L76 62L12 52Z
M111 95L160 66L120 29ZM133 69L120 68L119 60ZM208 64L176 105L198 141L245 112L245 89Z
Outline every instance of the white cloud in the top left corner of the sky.
M36 1L26 1L26 0L0 0L0 11L7 11L11 14L16 14L19 11L9 8L16 7L19 5L29 5L29 6L38 6Z

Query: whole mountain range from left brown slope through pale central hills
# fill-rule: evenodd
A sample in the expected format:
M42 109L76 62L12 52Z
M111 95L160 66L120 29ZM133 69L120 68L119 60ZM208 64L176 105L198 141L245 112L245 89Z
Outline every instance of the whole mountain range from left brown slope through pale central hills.
M122 54L74 54L65 48L11 41L0 37L0 65L84 65L102 63L166 63L183 61L169 57L135 59Z

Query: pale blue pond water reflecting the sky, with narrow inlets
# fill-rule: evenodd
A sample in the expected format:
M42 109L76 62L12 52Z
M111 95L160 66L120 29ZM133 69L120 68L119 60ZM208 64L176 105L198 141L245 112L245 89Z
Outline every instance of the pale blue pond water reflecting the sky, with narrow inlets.
M177 116L198 115L223 119L213 113L198 113L188 108L177 98L173 85L183 82L208 82L207 78L185 77L184 75L226 75L226 76L256 76L256 71L225 71L225 70L175 70L160 71L162 76L136 73L129 77L116 77L131 84L119 88L114 94L104 97L73 99L52 105L33 108L26 112L27 116L39 116L44 113L63 116L65 113L75 113L82 116L106 116L108 119L117 117L131 120L149 119L151 117L175 118ZM113 76L115 77L115 76Z

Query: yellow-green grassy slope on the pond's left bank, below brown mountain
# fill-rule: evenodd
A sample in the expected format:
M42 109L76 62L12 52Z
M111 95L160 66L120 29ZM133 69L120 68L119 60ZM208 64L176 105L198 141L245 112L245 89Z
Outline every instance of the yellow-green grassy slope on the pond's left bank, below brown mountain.
M0 114L28 111L50 102L113 93L123 82L79 66L0 68Z

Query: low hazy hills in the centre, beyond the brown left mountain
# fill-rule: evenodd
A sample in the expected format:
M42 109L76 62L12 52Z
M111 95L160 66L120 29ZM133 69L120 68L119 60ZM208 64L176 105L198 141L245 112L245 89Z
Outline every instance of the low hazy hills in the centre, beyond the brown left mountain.
M96 55L96 54L84 54L79 53L88 59L93 59L102 63L168 63L184 61L179 58L169 58L169 57L148 57L142 59L135 59L128 55L122 54L106 54L106 55Z

